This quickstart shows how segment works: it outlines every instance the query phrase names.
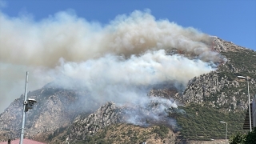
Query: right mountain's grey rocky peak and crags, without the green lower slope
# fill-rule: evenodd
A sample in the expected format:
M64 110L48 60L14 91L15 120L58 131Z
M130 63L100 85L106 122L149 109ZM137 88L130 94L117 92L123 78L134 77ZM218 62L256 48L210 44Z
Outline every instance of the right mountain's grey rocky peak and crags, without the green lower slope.
M184 104L209 102L216 108L245 110L248 106L247 83L237 76L250 77L252 99L256 94L256 52L218 37L212 38L214 50L226 57L226 62L222 62L218 70L192 78L182 94L175 90L164 89L151 90L150 95L174 98Z

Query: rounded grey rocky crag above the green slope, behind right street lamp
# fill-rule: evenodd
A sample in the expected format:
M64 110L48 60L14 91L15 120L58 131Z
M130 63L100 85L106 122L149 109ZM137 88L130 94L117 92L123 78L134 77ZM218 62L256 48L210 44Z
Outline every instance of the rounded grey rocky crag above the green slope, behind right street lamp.
M244 93L242 87L243 80L235 78L229 80L218 72L202 74L198 78L190 80L184 94L183 101L188 102L210 102L211 106L216 108L225 108L227 110L245 110L248 105L247 93ZM250 85L254 87L254 79L251 79Z

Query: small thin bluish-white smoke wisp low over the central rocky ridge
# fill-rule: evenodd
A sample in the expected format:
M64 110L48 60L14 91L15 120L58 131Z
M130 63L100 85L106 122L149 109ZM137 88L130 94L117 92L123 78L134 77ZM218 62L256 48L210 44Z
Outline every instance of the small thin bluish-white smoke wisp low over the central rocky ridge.
M175 126L174 119L168 117L170 108L177 108L173 99L150 97L142 100L139 105L125 106L122 109L124 121L138 126L150 126L152 124L166 123Z

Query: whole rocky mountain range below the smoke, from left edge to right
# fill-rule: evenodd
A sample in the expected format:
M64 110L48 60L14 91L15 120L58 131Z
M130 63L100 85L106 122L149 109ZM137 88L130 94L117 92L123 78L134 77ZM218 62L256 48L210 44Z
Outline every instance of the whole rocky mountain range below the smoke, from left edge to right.
M38 103L27 112L26 138L49 143L182 143L189 142L188 139L225 138L223 134L215 134L225 129L218 126L220 120L234 125L229 135L239 130L242 132L243 116L248 106L247 82L237 76L249 77L253 98L256 94L256 52L212 38L213 50L222 54L225 60L220 60L218 70L190 79L184 90L170 86L148 92L149 97L173 99L178 103L178 107L165 108L163 113L157 113L166 120L154 122L154 119L142 118L141 121L148 126L134 126L125 120L127 109L150 115L162 106L158 105L160 102L151 102L146 108L116 106L114 102L81 98L81 95L88 94L86 90L63 89L48 84L28 93L28 98L37 99ZM0 114L0 141L19 137L22 101L23 95ZM214 122L206 125L207 118ZM170 126L166 122L173 124ZM200 125L206 125L203 127L205 131ZM206 131L210 131L209 134Z

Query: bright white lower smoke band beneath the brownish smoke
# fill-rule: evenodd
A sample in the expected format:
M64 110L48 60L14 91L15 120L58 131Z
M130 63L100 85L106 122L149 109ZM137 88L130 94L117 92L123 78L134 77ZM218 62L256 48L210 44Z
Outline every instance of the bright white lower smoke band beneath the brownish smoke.
M94 98L122 103L138 98L139 101L150 88L163 83L174 84L181 89L180 86L185 87L190 78L214 70L206 62L166 55L164 50L147 51L139 56L131 55L128 59L107 54L86 62L61 63L58 75L79 79ZM58 84L68 86L70 82L65 79L59 80Z

